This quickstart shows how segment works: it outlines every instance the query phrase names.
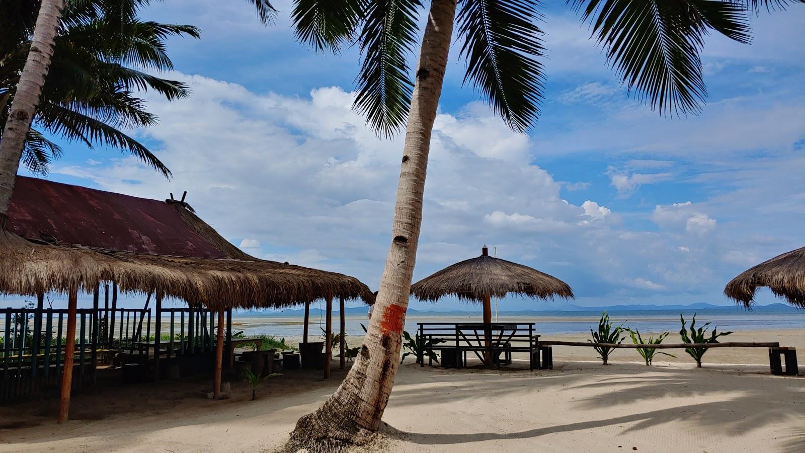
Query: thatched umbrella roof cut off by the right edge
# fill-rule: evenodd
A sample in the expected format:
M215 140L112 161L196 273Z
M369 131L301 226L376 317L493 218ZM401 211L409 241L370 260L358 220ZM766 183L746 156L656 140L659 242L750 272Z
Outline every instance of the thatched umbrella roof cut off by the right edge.
M760 286L768 286L791 305L805 308L805 247L786 251L741 272L727 284L724 293L749 308Z

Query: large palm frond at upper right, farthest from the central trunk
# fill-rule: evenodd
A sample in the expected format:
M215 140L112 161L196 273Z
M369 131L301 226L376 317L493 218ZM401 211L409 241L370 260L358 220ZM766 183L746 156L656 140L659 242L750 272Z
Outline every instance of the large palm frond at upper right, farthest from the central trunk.
M696 114L707 97L700 51L715 29L749 39L742 6L722 0L568 0L604 46L609 63L661 114Z

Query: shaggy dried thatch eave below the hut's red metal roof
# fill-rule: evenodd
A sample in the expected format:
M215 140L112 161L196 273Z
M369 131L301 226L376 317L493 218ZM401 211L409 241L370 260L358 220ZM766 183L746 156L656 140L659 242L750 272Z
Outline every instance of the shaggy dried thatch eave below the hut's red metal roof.
M283 307L328 295L374 302L351 276L264 260L216 260L32 243L0 231L0 292L92 291L116 281L124 292L159 289L209 309Z

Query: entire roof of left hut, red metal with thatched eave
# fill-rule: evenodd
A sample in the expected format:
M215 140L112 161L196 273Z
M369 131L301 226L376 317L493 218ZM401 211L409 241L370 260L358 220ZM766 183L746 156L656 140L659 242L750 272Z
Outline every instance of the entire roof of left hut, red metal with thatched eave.
M124 292L159 289L213 309L282 307L328 294L374 301L369 287L352 276L243 253L181 203L31 179L21 178L23 189L41 196L56 185L59 196L39 200L48 206L31 204L36 197L30 191L18 197L18 183L9 231L0 232L0 292L91 291L102 281L116 281ZM60 214L65 210L69 214ZM187 239L180 253L153 252L175 250L175 237ZM105 247L110 244L119 245Z

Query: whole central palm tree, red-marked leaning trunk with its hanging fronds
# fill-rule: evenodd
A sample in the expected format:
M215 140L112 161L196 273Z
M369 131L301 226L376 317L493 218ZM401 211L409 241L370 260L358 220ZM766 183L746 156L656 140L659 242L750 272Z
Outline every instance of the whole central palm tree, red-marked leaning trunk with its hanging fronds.
M630 93L661 114L696 114L706 97L700 50L712 31L748 43L749 15L805 0L568 0ZM378 429L398 367L411 289L431 130L454 24L464 83L514 131L539 118L543 31L537 0L431 0L411 82L407 57L418 35L419 0L295 0L297 37L316 51L357 43L363 65L354 107L379 133L405 124L394 223L364 346L324 405L299 419L286 448L335 451Z

